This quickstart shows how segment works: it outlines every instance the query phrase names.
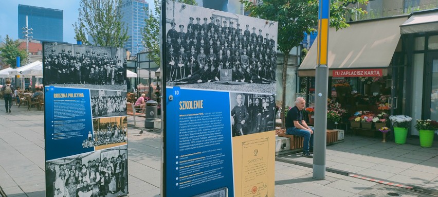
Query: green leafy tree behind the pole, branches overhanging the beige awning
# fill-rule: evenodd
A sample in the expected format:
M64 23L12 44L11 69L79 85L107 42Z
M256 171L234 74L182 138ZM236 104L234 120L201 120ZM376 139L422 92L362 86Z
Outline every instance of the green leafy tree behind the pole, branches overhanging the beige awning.
M350 12L364 13L360 8L346 7L350 3L367 4L368 0L331 0L330 27L336 29L349 26L345 19ZM303 32L316 32L318 26L318 0L264 0L255 5L247 0L241 0L250 16L261 19L277 21L278 49L284 54L283 59L283 95L282 109L286 108L286 70L290 50L298 46L303 40ZM284 113L284 111L283 111ZM285 116L281 116L282 125L285 127Z

